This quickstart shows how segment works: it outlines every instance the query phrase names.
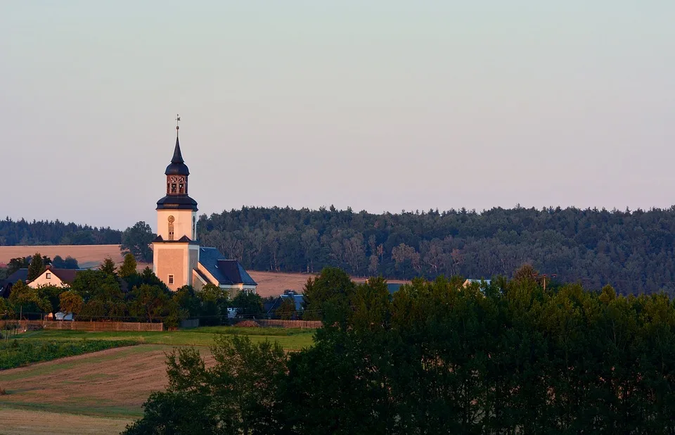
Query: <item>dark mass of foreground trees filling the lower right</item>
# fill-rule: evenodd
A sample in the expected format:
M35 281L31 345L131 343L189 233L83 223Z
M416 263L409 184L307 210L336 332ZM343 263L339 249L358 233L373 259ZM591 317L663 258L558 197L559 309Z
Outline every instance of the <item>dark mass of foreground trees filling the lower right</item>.
M549 284L532 267L390 294L326 270L314 346L175 350L127 435L674 434L675 305ZM309 307L308 307L309 308Z

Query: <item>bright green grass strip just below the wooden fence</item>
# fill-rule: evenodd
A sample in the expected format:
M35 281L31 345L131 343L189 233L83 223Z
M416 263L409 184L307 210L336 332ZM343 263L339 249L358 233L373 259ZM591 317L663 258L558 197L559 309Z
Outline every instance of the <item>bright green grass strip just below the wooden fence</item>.
M174 332L84 332L84 331L33 331L17 336L21 340L72 341L91 340L131 340L146 344L165 344L167 346L210 346L217 334L242 334L251 341L278 341L287 351L299 351L311 346L314 329L290 328L237 328L237 327L199 327L181 329Z

